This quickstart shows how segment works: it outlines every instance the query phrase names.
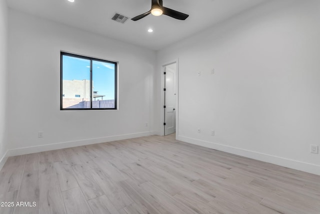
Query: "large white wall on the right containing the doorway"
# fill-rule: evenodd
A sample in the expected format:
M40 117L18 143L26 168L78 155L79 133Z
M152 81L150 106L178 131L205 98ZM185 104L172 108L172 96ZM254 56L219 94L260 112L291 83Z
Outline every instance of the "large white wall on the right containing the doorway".
M160 66L179 59L177 138L320 174L309 149L320 145L319 9L269 1L160 50L159 80Z

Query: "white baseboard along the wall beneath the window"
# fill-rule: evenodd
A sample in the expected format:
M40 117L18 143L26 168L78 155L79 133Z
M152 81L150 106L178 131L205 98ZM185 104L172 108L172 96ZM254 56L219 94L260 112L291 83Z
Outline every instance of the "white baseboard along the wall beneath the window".
M122 134L122 135L115 135L115 136L108 136L108 137L101 137L101 138L91 138L91 139L85 139L85 140L76 140L76 141L68 141L68 142L61 142L61 143L52 143L52 144L46 144L46 145L38 145L38 146L29 146L29 147L23 147L23 148L9 149L6 152L6 156L9 157L9 156L22 155L22 154L42 152L42 151L70 148L70 147L75 147L75 146L84 146L84 145L89 145L89 144L104 143L104 142L110 142L110 141L115 141L115 140L125 140L125 139L130 139L130 138L154 135L154 133L155 133L154 131L147 131L147 132Z

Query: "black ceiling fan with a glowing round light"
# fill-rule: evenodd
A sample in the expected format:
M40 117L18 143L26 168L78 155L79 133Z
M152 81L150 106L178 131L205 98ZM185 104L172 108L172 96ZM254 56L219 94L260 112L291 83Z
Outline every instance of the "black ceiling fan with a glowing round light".
M163 7L162 0L151 0L151 9L144 14L133 17L131 20L137 21L139 19L142 19L143 17L146 17L149 14L152 14L153 16L161 16L163 14L177 20L185 20L189 16L187 14L183 14L181 12L177 12L172 9Z

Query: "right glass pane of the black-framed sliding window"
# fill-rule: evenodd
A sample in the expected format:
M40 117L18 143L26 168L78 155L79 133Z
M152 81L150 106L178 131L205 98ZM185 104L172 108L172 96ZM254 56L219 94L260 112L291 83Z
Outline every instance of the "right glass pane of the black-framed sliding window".
M115 64L92 60L92 108L114 108Z

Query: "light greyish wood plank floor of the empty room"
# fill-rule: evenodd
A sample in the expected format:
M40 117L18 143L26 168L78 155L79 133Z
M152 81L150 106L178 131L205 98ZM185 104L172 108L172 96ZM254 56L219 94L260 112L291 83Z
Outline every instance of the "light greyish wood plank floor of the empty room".
M14 202L0 213L311 214L320 176L149 136L9 157L0 201Z

